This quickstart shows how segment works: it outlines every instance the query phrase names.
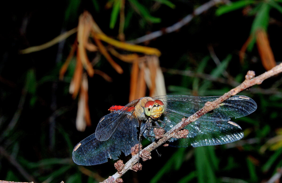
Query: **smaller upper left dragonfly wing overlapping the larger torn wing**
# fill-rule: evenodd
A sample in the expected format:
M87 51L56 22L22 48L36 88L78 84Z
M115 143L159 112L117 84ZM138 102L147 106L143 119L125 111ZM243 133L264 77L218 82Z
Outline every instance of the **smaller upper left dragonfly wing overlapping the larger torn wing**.
M122 127L124 125L126 121L124 118L128 118L128 114L132 112L129 110L133 110L133 106L136 102L138 102L138 99L125 105L121 110L107 114L101 118L95 131L96 138L100 141L108 140L118 127ZM132 115L130 118L133 120ZM135 125L136 127L139 126L138 121L135 122Z

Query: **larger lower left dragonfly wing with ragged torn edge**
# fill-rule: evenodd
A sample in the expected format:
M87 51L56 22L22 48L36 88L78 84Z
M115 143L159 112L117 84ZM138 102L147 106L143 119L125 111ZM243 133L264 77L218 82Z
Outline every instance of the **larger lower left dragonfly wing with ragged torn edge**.
M116 116L114 113L108 115ZM108 158L118 159L121 152L129 155L131 147L138 144L136 129L138 120L131 118L131 113L127 115L123 118L123 125L116 127L108 140L100 141L94 133L78 143L72 151L73 161L78 165L97 165L107 162Z

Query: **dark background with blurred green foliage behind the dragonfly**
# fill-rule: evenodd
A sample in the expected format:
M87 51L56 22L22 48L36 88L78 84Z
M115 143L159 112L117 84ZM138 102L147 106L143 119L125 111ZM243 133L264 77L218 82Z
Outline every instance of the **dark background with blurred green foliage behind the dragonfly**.
M75 129L77 99L72 100L68 94L74 60L64 81L58 80L59 69L74 37L67 39L63 48L54 46L29 55L16 52L19 48L42 44L62 30L76 27L78 16L84 9L93 14L106 34L115 36L122 2L67 0L56 7L51 3L52 6L38 6L38 9L25 8L29 7L27 3L21 10L10 12L11 20L17 26L12 27L14 32L1 35L8 37L8 41L0 66L0 146L5 149L0 155L0 179L32 181L24 176L27 173L30 178L44 183L61 180L67 183L99 182L96 174L85 175L72 162L72 149L95 131L99 119L107 114L111 105L128 102L129 65L118 61L125 69L123 75L116 74L104 58L95 65L95 69L103 70L114 81L108 83L97 75L89 78L93 124L81 133ZM125 37L127 40L135 39L168 27L205 2L125 1ZM168 93L219 96L232 89L234 83L242 82L248 70L255 70L257 74L264 72L253 49L255 39L249 44L244 63L240 64L237 56L248 36L259 28L269 32L276 59L281 60L275 52L281 49L281 2L240 0L221 4L196 16L178 32L151 41L149 46L160 49L163 54L160 57L162 67L193 72L193 76L165 72ZM246 10L247 14L241 10ZM24 28L25 20L28 20L27 29ZM15 33L20 31L21 34ZM208 45L214 47L219 64L215 64L214 56L208 52ZM228 75L223 74L225 71ZM241 93L252 97L258 104L253 114L234 120L244 129L243 140L210 147L160 147L161 157L152 153L152 160L141 162L143 170L136 174L127 172L122 177L124 182L252 183L268 180L282 166L282 147L260 151L269 139L278 136L275 131L281 128L280 78L276 76ZM17 164L12 163L13 158ZM125 161L129 157L122 155L121 158ZM116 171L111 160L86 168L104 178Z

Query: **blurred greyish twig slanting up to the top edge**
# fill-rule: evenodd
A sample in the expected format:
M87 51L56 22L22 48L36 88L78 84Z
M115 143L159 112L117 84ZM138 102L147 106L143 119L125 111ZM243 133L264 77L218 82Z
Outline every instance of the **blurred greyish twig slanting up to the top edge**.
M203 4L203 5L199 6L198 8L196 8L194 10L193 13L187 15L186 17L181 19L179 22L173 24L172 26L164 28L162 30L151 32L150 34L147 34L147 35L142 36L140 38L128 41L128 43L132 43L132 44L143 43L145 41L149 41L149 40L158 38L158 37L162 36L163 34L167 34L167 33L171 33L171 32L174 32L176 30L179 30L181 27L188 24L195 16L202 14L204 11L210 9L211 7L213 7L214 5L216 5L218 3L226 3L226 1L224 1L224 0L211 0L211 1L209 1L205 4Z

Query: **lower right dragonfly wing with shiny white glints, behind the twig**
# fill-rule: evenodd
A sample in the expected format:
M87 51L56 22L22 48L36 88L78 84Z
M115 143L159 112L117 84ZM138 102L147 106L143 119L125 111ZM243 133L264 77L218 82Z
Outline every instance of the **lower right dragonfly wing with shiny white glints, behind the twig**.
M167 132L178 122L181 121L183 116L164 114L159 120L158 124ZM145 127L145 123L142 123ZM142 128L141 127L141 128ZM198 120L187 125L189 133L187 138L171 138L169 146L173 147L193 147L206 146L206 145L220 145L234 142L243 138L244 133L239 125L232 121L221 120L208 116L202 116ZM155 141L153 129L147 128L143 136L150 140Z

